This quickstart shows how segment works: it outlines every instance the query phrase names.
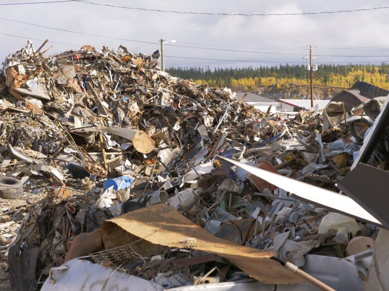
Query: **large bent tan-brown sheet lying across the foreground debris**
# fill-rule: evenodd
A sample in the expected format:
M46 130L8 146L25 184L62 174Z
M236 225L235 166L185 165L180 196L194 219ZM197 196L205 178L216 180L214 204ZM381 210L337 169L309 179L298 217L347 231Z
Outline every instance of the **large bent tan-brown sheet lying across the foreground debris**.
M140 247L145 243L150 246L151 243L151 246L191 248L219 255L264 283L302 282L301 278L271 260L273 253L215 237L166 204L151 205L104 221L102 237L106 249L128 243L133 243L135 247L136 242L139 242ZM147 251L149 248L143 249Z

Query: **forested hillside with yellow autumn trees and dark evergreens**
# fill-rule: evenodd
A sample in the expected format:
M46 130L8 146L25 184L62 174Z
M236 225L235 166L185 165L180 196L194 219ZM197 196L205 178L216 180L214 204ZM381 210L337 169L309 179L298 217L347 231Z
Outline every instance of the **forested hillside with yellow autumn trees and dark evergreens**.
M281 65L259 68L170 68L170 74L189 79L197 84L230 87L237 91L262 91L264 86L283 89L309 84L309 71L305 65ZM356 81L365 81L389 89L389 64L381 65L319 65L314 73L314 84L328 87L350 88ZM260 90L262 89L262 90Z

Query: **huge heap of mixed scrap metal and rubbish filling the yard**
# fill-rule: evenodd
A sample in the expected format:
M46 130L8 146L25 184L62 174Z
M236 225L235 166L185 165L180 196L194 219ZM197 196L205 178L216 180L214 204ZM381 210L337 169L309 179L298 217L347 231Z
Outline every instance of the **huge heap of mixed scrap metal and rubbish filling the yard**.
M371 124L351 130L315 111L283 120L236 102L229 89L172 77L158 59L158 51L133 54L123 46L45 57L30 43L5 59L1 173L23 183L23 198L42 198L18 213L23 220L14 236L4 240L12 223L0 225L4 245L30 248L35 258L32 268L15 273L42 282L84 239L90 248L78 256L92 254L94 262L165 288L204 283L217 270L207 283L249 278L225 258L194 251L195 239L150 253L128 244L110 249L96 238L104 221L159 203L217 238L272 251L298 267L307 253L355 254L356 238L369 241L362 249L374 248L377 226L290 197L216 159L339 191L336 183L350 171ZM388 161L388 151L379 154Z

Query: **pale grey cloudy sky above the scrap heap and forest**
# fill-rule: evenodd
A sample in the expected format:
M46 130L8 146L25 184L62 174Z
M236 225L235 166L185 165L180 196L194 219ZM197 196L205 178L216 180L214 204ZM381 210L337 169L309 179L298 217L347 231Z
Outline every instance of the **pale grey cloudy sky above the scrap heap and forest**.
M38 1L47 0L0 0L0 4ZM387 0L88 1L147 9L212 13L301 13L388 5ZM53 44L54 47L46 54L78 50L84 44L99 49L103 45L117 49L122 44L131 51L151 54L159 48L159 39L163 38L177 40L177 43L165 47L167 67L255 67L286 62L304 63L303 56L308 53L306 46L309 44L317 47L314 50L317 63L381 62L389 61L388 13L389 9L381 9L297 16L219 16L140 11L81 2L0 5L0 18L99 35L88 36L0 19L0 60L23 47L26 38L37 39L32 40L35 48L41 44L39 40L46 38L63 43ZM246 52L237 52L239 50Z

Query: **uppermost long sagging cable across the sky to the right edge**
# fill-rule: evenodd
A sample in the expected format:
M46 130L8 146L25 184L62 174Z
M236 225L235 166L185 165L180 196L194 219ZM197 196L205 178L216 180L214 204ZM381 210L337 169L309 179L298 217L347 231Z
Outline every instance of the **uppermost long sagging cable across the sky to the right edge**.
M131 10L142 10L142 11L154 11L154 12L165 12L165 13L178 13L178 14L196 14L196 15L221 15L221 16L285 16L285 15L314 15L314 14L334 14L334 13L345 13L345 12L357 12L357 11L371 11L388 9L389 6L373 7L373 8L361 8L351 10L336 10L336 11L320 11L320 12L301 12L301 13L212 13L212 12L192 12L192 11L175 11L175 10L162 10L162 9L148 9L139 7L119 6L104 3L95 3L90 1L80 1L81 3L93 4L98 6L108 6L115 8L124 8Z

